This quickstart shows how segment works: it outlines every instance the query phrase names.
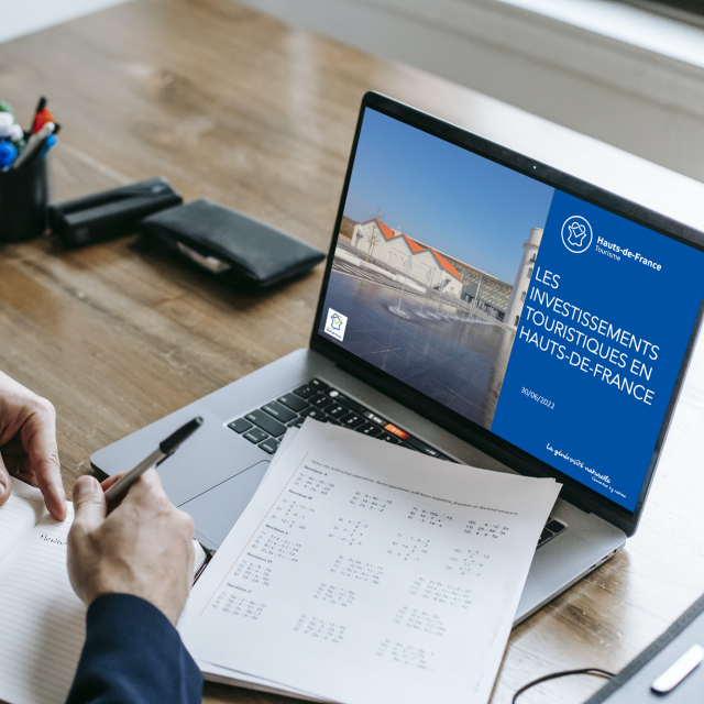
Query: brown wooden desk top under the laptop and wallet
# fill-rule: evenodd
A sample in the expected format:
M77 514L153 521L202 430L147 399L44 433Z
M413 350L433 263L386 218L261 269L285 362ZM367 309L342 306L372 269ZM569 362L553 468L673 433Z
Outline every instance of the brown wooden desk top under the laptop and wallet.
M163 174L327 249L361 97L376 89L704 229L704 186L422 72L227 0L134 0L0 46L0 98L64 124L55 200ZM133 239L0 249L0 369L54 402L66 488L99 448L307 344L318 267L244 295ZM653 315L667 301L653 299ZM512 635L493 702L568 668L618 670L704 591L704 351L638 535ZM598 438L595 438L595 442ZM581 702L572 678L525 702ZM208 702L268 702L206 686Z

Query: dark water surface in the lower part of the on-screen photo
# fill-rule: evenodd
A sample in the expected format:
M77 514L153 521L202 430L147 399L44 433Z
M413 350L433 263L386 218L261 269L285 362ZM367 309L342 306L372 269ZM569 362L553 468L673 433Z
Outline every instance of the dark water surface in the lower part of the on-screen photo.
M457 304L332 272L326 307L348 316L342 346L491 428L515 332ZM323 324L326 316L323 315Z

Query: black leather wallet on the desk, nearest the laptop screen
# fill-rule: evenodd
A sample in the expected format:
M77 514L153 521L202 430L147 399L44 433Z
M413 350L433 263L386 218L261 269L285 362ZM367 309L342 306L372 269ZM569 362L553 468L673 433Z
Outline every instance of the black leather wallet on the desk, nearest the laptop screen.
M298 276L326 255L242 212L206 198L140 221L143 242L234 286L266 288Z

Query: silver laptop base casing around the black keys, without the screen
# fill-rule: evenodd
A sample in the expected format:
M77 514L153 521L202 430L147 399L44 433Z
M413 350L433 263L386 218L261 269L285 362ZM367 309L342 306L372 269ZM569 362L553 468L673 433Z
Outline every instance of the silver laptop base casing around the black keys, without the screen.
M195 416L205 422L194 438L160 468L169 499L190 514L196 538L217 550L254 495L272 455L228 424L272 398L319 377L381 416L398 424L459 462L512 472L439 426L343 372L327 358L300 349L241 380L118 440L96 452L90 462L112 476L141 461L166 436ZM516 623L615 554L626 535L615 526L558 499L552 516L569 525L536 552Z

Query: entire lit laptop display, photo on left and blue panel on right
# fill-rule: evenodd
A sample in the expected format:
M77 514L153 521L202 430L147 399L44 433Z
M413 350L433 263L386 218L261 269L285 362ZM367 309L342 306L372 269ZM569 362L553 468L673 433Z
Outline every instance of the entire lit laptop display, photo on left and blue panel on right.
M318 334L632 512L704 253L366 108Z

